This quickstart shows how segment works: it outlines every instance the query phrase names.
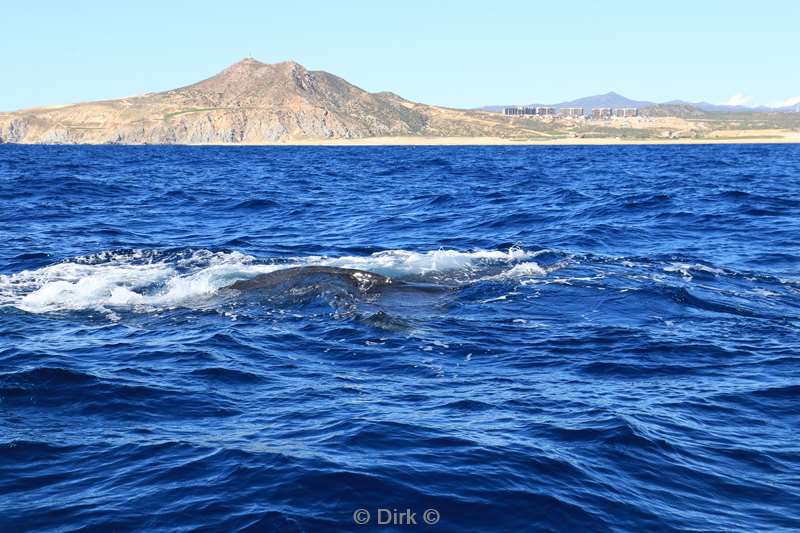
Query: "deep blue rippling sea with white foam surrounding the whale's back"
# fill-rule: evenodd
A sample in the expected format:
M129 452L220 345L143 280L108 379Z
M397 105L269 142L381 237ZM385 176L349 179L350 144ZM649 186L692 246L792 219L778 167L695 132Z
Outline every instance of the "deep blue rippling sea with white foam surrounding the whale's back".
M0 242L2 531L800 528L800 146L0 146Z

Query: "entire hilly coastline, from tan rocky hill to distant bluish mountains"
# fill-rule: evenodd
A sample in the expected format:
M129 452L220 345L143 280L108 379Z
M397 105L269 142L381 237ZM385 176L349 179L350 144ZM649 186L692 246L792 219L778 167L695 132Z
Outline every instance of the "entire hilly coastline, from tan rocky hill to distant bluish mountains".
M273 144L372 139L374 143L436 143L447 139L559 141L571 139L716 139L761 135L800 139L800 113L763 113L741 120L712 114L711 104L631 100L607 93L554 107L637 107L644 121L574 121L506 117L485 110L412 102L371 93L293 61L252 58L185 87L117 100L0 112L0 144ZM490 110L501 110L491 106ZM713 111L740 111L712 106ZM721 133L715 133L715 130ZM752 130L752 131L751 131ZM761 132L753 133L753 131ZM715 136L716 135L716 136ZM380 140L377 141L376 139ZM407 141L402 141L406 139ZM428 142L428 141L425 141ZM472 142L472 141L470 141ZM494 141L492 141L494 142Z

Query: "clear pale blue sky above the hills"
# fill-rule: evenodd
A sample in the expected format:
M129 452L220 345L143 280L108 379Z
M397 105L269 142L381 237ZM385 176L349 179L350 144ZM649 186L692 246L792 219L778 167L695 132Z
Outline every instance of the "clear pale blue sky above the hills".
M0 110L178 87L247 55L432 104L800 97L800 1L7 1Z

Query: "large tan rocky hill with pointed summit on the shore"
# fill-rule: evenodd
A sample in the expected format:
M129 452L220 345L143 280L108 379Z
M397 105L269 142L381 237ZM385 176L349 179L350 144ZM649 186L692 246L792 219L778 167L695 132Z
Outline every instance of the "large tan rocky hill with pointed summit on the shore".
M171 91L0 114L0 142L260 144L519 133L486 117L417 104L392 93L369 93L291 61L245 59Z

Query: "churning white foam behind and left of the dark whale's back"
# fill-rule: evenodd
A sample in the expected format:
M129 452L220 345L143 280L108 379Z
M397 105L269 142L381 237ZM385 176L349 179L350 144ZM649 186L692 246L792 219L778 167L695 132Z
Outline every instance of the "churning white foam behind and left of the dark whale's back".
M525 261L542 252L390 250L369 256L298 257L262 263L238 252L198 250L164 259L152 251L100 252L36 270L0 275L0 306L31 313L114 309L151 311L203 306L236 280L282 268L324 265L368 270L389 277L458 273L461 279L492 267L503 276L543 275L544 269ZM520 262L523 261L523 262ZM472 279L487 279L476 276Z

